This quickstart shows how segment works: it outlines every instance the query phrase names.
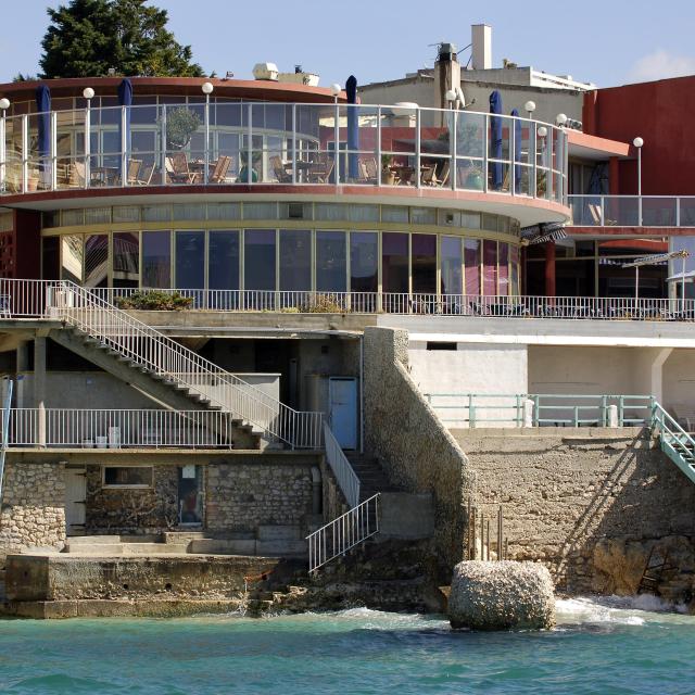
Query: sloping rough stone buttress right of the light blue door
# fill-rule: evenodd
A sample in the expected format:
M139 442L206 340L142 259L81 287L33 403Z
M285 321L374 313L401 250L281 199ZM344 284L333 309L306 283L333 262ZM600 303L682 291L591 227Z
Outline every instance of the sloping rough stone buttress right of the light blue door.
M432 493L434 541L451 572L463 557L463 504L472 486L466 455L410 378L406 331L367 328L364 361L366 450L395 486Z

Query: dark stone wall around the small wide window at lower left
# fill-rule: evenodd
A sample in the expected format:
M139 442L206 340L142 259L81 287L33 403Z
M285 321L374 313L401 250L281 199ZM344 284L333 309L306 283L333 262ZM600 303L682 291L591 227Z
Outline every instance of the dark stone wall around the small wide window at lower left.
M160 533L178 523L178 468L154 466L154 486L104 488L101 466L87 470L87 533Z

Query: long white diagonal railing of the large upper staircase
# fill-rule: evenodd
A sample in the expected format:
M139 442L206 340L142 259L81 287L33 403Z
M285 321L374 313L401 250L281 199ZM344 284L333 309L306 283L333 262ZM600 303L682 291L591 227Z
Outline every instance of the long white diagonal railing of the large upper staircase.
M320 413L299 412L70 281L47 289L47 314L97 339L135 366L181 384L292 448L321 448Z

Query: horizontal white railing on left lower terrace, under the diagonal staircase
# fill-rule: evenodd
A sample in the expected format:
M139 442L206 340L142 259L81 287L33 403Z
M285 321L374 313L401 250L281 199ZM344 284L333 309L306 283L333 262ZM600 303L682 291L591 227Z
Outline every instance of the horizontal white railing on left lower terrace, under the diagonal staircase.
M8 446L232 448L216 410L11 408Z

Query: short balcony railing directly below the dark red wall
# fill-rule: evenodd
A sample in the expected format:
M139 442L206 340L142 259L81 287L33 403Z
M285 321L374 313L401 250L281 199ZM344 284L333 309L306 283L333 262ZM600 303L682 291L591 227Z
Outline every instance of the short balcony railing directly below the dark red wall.
M695 227L695 195L568 195L579 227Z

